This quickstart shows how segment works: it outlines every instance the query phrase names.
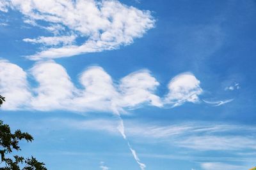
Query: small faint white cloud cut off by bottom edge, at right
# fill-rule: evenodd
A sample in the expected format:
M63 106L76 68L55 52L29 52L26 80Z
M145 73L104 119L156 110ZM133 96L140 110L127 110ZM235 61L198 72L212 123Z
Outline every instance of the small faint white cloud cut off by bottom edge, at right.
M244 169L243 166L237 166L232 164L225 164L221 162L205 162L201 164L204 170L241 170Z

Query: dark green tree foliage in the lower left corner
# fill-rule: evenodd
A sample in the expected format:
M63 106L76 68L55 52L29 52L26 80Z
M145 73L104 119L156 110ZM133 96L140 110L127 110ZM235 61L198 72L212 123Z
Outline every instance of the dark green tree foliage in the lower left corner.
M5 101L3 96L0 96L0 106ZM34 157L24 158L19 155L13 155L13 150L20 151L19 141L33 141L33 136L27 132L21 132L19 129L12 133L10 126L4 124L0 120L0 170L46 170L43 162L38 162ZM21 168L20 166L24 166Z

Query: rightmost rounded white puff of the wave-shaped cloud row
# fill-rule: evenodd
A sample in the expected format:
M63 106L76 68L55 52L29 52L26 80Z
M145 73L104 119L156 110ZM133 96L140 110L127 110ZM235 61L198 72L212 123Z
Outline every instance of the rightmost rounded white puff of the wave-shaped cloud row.
M200 88L200 81L191 73L182 73L175 76L170 81L168 89L170 92L164 102L172 104L173 107L180 106L185 102L198 103L198 96L203 92Z

